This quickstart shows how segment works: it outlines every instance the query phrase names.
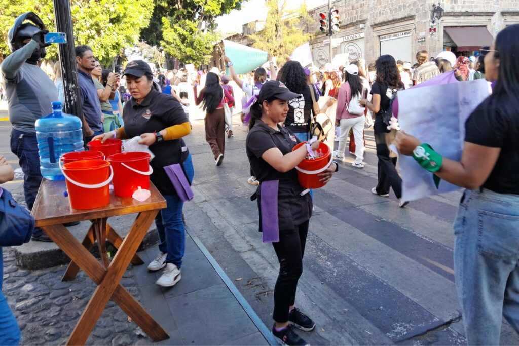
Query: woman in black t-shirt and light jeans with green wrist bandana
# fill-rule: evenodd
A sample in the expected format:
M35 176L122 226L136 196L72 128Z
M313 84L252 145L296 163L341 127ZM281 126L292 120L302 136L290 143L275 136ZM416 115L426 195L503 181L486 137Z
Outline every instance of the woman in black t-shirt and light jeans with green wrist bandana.
M502 316L519 332L519 24L485 56L493 93L465 123L461 162L398 133L397 147L464 187L454 223L454 270L468 344L498 345Z

